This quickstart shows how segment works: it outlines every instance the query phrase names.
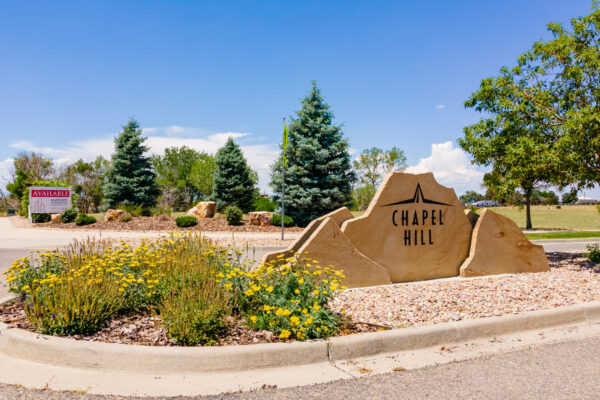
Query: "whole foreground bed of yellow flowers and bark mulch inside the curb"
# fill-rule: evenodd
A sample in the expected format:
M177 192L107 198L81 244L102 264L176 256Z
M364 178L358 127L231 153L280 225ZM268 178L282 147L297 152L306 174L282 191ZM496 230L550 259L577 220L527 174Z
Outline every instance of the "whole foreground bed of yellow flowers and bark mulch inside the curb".
M6 271L0 321L43 334L144 345L233 345L381 329L328 304L343 273L290 257L257 268L197 234L139 246L89 239ZM385 329L385 328L384 328Z

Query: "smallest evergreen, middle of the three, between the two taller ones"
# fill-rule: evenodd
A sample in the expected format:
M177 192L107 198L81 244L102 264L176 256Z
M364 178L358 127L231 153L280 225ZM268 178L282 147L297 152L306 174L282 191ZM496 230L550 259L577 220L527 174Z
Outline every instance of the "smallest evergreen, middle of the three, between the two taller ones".
M217 208L236 205L244 212L251 210L255 196L252 170L242 149L232 138L227 139L227 143L217 151L215 164L211 198L217 203Z

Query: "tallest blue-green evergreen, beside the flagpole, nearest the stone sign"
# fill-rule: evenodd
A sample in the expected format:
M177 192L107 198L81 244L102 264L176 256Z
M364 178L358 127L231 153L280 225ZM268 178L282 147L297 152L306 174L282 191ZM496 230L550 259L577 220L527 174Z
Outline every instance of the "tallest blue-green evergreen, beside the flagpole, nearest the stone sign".
M285 213L300 226L352 201L348 142L315 81L288 129ZM272 166L271 188L281 203L281 156Z

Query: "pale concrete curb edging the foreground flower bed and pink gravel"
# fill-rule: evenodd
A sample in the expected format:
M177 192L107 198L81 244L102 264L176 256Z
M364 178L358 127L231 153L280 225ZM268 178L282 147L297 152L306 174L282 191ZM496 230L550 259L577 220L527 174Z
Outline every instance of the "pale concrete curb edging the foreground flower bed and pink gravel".
M42 364L146 373L193 373L334 362L520 331L600 321L600 302L518 315L334 337L327 341L229 347L149 347L85 342L8 329L0 353Z

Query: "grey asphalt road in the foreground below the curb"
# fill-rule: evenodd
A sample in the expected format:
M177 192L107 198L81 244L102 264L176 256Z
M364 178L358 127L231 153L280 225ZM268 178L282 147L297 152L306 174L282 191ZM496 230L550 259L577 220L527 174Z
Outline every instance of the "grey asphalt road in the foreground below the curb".
M598 399L600 337L536 346L451 364L207 400L270 399ZM0 399L125 399L0 384Z

